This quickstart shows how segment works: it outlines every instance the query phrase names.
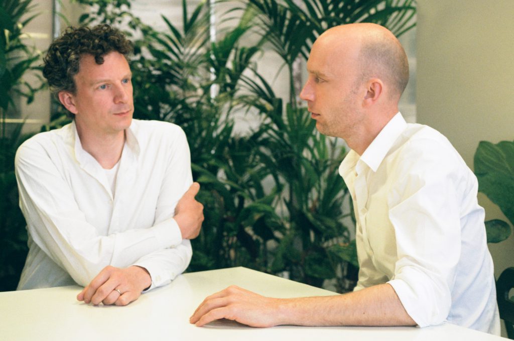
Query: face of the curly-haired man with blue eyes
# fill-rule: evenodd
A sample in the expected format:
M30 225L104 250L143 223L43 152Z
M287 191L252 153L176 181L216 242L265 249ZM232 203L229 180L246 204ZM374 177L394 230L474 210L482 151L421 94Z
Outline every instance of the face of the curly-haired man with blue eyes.
M122 135L134 113L132 73L125 57L110 52L103 59L99 65L91 55L81 57L74 77L77 91L65 104L75 114L79 134L96 138Z

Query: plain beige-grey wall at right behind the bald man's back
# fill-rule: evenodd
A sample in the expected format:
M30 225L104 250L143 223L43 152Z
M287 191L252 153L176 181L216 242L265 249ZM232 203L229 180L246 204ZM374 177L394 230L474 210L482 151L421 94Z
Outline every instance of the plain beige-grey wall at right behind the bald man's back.
M514 1L417 0L417 121L439 130L469 167L481 140L514 139ZM503 219L483 194L486 220ZM514 238L489 244L498 276Z

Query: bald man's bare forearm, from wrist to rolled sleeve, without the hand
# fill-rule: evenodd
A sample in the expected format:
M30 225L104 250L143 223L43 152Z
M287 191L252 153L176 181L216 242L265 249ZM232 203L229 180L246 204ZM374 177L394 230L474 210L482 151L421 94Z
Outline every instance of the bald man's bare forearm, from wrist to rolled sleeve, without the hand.
M339 296L278 299L276 303L276 325L416 325L387 283Z

